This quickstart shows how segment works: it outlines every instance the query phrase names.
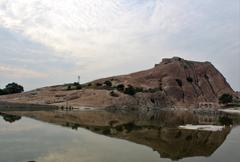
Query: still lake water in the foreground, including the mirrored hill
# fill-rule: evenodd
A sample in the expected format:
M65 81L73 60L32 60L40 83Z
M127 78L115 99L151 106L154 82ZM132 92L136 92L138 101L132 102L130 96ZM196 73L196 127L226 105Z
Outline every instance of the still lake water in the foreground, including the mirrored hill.
M195 123L195 115L175 114L174 120L163 123L172 114L160 113L158 118L106 112L19 114L28 117L0 117L0 162L237 162L240 159L238 124L218 132L186 131L175 126L179 120ZM216 114L207 116L207 122L214 123L219 118Z

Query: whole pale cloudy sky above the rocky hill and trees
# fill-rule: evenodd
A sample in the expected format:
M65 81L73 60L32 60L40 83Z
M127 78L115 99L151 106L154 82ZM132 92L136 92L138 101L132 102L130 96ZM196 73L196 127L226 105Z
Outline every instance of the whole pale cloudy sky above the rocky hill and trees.
M240 0L0 0L0 88L210 61L240 90Z

